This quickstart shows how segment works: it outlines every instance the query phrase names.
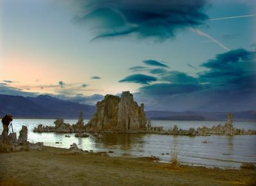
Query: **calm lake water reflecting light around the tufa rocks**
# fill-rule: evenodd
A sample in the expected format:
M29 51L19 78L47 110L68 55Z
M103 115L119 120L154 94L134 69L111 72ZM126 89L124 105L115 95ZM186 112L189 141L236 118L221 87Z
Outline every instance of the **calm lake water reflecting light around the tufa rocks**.
M33 133L33 128L39 124L54 125L54 120L17 119L13 121L13 130L19 132L22 125L28 126L30 142L44 142L46 146L69 148L76 143L83 150L114 151L112 156L145 157L158 156L163 162L170 160L172 149L179 151L179 159L185 164L239 167L242 162L256 164L256 136L168 136L156 134L103 134L101 139L77 138L75 134ZM76 123L77 120L65 120ZM87 121L86 121L87 122ZM212 127L225 121L152 121L153 126L163 126L165 129L177 125L178 128ZM255 129L256 123L249 121L235 122L237 128ZM1 125L0 132L3 127ZM19 135L19 134L17 134ZM207 143L203 143L207 141ZM60 142L60 144L56 144ZM164 154L163 154L164 153Z

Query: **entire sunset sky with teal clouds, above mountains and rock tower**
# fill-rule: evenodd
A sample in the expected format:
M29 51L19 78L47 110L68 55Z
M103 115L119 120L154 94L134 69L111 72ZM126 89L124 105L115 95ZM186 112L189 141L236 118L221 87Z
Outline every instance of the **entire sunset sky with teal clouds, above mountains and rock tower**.
M256 1L0 0L0 94L256 110Z

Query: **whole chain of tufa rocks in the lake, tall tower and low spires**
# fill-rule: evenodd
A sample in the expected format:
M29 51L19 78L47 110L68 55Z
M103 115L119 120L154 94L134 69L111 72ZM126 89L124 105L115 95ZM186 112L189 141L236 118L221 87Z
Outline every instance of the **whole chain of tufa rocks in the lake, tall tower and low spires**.
M76 137L88 136L84 132L108 132L108 133L151 133L179 136L209 136L214 135L255 135L256 130L244 130L232 125L234 114L228 114L225 125L218 124L211 128L198 127L182 130L175 125L169 130L163 127L152 127L150 119L146 118L144 104L140 106L134 101L129 91L123 91L121 97L106 95L104 100L97 102L97 111L92 119L85 125L83 113L79 114L76 124L64 123L63 119L54 121L55 126L38 125L33 132L58 132L79 133Z

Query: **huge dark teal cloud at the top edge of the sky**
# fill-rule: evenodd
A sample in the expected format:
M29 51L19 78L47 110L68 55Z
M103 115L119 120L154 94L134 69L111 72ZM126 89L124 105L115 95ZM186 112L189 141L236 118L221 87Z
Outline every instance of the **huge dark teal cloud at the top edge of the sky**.
M206 0L76 0L74 20L93 28L96 38L135 34L165 40L177 30L204 23Z

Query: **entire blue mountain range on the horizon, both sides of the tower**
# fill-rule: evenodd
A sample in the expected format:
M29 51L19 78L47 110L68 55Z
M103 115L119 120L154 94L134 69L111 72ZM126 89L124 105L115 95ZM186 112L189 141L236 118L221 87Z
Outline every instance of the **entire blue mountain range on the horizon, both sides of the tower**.
M83 112L84 118L90 119L96 107L60 100L49 95L38 97L0 95L0 117L12 114L15 118L77 119L80 111ZM227 121L227 114L228 112L146 111L147 118L152 120ZM256 121L256 111L234 112L234 116L236 121Z

